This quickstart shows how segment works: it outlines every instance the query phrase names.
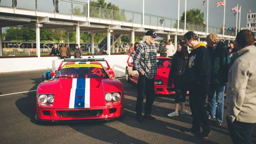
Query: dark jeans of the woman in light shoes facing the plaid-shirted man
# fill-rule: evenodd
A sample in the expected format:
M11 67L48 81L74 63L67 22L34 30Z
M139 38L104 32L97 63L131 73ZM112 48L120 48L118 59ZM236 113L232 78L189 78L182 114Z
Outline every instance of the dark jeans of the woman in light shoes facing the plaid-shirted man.
M175 85L175 104L186 101L187 87L185 85Z

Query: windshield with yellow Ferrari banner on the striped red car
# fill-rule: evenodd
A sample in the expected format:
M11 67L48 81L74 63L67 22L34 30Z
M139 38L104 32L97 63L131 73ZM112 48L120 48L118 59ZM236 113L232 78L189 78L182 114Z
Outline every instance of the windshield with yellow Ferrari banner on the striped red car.
M66 64L56 75L56 78L108 78L105 70L99 64Z

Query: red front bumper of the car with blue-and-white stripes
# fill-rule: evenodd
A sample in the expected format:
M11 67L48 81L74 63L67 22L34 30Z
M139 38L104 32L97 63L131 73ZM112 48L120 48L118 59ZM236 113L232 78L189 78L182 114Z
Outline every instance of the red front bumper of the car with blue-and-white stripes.
M110 120L119 118L123 113L123 104L118 106L83 109L36 108L36 116L38 120L50 122L65 120Z

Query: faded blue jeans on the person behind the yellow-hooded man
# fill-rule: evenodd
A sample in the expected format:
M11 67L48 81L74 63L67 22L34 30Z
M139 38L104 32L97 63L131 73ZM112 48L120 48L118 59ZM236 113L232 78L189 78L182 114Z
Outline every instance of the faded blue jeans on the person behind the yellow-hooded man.
M224 86L210 86L208 93L209 115L218 122L223 121Z

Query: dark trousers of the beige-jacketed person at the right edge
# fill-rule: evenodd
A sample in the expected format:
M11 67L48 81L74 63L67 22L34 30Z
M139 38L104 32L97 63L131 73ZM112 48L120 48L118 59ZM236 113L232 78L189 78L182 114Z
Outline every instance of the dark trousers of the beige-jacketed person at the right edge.
M231 123L228 117L226 119L230 137L234 144L252 143L252 130L255 125L254 123L238 122L236 120Z

